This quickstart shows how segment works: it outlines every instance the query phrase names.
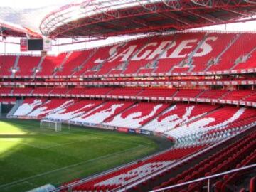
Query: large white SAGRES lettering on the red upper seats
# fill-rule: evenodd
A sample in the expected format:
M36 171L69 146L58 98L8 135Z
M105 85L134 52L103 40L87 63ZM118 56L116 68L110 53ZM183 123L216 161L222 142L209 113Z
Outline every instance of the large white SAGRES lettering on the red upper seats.
M206 38L206 40L201 43L200 48L198 48L193 57L202 57L211 53L213 51L213 47L210 45L210 43L216 41L217 39L218 38L215 36ZM98 58L95 60L95 63L102 63L106 59L107 62L110 63L113 61L124 62L129 60L131 57L131 60L153 60L157 55L160 55L161 53L162 55L160 59L186 58L193 52L193 50L195 50L200 41L201 40L198 39L188 39L183 40L178 44L175 41L151 42L146 46L131 45L128 47L124 46L124 48L119 48L120 45L117 45L110 48L109 58ZM167 46L169 46L169 48L168 50L165 50ZM172 50L171 53L169 53L170 50Z

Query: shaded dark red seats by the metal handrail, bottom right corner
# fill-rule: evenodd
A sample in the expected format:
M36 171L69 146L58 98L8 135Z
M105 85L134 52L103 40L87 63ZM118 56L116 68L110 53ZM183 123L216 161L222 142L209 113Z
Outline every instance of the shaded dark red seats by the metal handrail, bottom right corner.
M176 183L184 183L203 176L218 174L220 172L233 169L237 165L238 167L241 167L243 162L247 161L247 159L251 159L252 156L252 160L254 159L253 161L255 161L255 144L256 132L247 135L245 138L238 139L235 143L226 146L224 149L218 151L212 156L209 156L207 159L204 159L195 166L186 169L181 174L170 178L169 181L162 183L160 186L157 186L154 189L164 188ZM171 189L171 191L200 191L202 187L203 182L198 182L190 184L186 189L183 186L180 188Z

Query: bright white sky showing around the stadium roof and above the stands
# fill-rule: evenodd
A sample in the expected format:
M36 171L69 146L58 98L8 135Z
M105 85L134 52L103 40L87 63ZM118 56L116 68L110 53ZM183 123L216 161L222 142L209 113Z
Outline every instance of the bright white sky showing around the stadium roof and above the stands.
M0 0L0 6L1 7L11 7L14 9L26 9L26 8L39 8L42 6L64 6L65 4L72 3L78 3L85 0ZM255 17L256 18L256 17ZM256 21L247 22L247 23L234 23L234 24L228 24L228 25L220 25L220 26L210 26L206 28L199 28L200 30L221 30L221 31L256 31ZM81 49L81 48L90 48L92 46L100 46L107 43L114 43L117 41L122 41L125 38L109 38L107 41L99 41L94 43L79 43L75 44L75 46L60 46L60 47L53 47L52 54L58 54L65 50L75 50L75 49ZM15 38L9 38L8 41L12 42L19 42L19 39ZM1 39L0 39L1 41ZM59 42L53 42L53 43L65 43L70 42L72 40L65 39L61 40ZM0 42L0 53L20 53L19 51L19 45L14 44L5 44Z

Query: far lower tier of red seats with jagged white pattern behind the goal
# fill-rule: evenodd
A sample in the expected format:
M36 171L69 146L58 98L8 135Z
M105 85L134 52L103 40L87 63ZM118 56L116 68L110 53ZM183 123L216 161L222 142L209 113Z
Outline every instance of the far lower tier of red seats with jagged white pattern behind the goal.
M30 98L24 100L14 116L141 129L188 146L229 137L256 122L255 113L251 108L206 104Z

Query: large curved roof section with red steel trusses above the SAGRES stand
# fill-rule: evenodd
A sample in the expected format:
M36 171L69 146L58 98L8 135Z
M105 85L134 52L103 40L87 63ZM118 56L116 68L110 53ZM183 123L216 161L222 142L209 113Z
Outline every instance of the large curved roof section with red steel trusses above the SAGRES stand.
M87 0L51 12L41 32L52 38L181 31L253 21L256 0Z

